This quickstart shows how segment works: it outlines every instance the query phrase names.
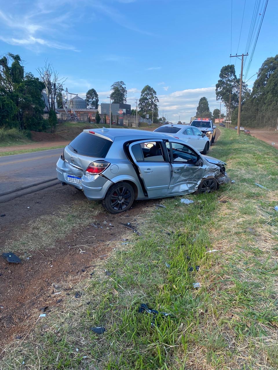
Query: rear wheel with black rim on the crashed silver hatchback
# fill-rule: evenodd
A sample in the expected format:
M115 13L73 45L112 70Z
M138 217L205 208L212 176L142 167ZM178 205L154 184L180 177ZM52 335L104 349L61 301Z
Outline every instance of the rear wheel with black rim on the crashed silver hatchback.
M134 197L134 190L128 182L117 182L108 189L102 205L110 213L121 213L128 211Z

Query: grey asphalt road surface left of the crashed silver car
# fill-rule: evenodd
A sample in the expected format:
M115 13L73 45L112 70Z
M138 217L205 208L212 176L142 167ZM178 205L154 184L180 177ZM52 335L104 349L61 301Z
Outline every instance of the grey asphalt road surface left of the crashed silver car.
M56 178L63 149L0 157L0 196Z

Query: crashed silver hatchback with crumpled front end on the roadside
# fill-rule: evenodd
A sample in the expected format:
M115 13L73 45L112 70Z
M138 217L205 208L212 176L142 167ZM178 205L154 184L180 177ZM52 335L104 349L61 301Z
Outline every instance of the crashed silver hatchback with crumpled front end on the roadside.
M120 213L135 199L214 191L230 181L225 165L167 134L102 128L86 129L73 139L56 171L63 185Z

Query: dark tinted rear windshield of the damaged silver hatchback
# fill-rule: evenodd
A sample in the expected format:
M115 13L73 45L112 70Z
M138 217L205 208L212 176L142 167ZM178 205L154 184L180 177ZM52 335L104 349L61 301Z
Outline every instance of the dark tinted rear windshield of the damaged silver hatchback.
M105 158L111 145L112 141L83 131L69 143L69 148L76 154Z

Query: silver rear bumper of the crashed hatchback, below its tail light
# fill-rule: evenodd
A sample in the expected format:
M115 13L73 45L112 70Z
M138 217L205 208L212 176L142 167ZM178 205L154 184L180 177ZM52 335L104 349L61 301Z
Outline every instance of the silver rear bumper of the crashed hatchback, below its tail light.
M85 175L83 172L77 169L70 168L62 158L59 158L56 164L56 172L58 180L82 190L86 198L92 201L104 199L107 190L109 189L110 185L113 184L112 181L101 175ZM80 177L81 184L72 184L69 182L67 179L68 175Z

